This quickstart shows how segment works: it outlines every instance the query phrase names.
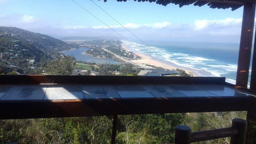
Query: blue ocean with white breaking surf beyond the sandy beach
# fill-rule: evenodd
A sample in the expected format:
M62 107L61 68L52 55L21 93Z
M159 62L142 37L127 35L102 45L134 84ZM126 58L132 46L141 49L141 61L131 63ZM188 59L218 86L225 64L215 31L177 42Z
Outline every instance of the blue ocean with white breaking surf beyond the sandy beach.
M239 44L210 42L155 42L145 46L123 41L130 49L164 63L198 71L200 76L223 76L235 83Z

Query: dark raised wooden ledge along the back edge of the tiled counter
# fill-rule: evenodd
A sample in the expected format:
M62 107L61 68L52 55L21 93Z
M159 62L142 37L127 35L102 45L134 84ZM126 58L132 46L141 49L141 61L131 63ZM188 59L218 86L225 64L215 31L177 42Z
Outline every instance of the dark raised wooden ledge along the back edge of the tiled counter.
M225 84L222 77L0 75L0 84Z

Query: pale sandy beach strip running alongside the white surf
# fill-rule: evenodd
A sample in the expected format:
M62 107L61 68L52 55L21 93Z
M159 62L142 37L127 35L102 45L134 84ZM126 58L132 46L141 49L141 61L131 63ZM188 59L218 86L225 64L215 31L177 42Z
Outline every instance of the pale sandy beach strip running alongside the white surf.
M185 70L186 73L188 73L188 74L193 74L193 76L202 76L202 74L200 74L196 70L190 70L189 68L184 68L182 66L175 65L174 63L167 64L167 63L161 62L159 60L154 60L153 58L151 58L148 55L145 55L145 54L142 54L142 53L139 53L139 52L135 52L134 50L129 49L129 47L127 47L123 43L122 43L122 49L125 49L125 50L130 51L130 52L134 52L134 54L137 54L138 56L141 57L140 60L130 60L130 62L132 62L132 63L137 63L139 65L145 65L145 66L146 65L153 65L153 66L158 66L158 67L169 69L169 70L176 70L178 68L178 69L181 69L181 70Z

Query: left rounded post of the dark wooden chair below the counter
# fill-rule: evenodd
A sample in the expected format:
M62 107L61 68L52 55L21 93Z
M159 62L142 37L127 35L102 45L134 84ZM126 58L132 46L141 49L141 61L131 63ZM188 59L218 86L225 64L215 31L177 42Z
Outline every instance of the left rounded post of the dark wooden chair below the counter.
M175 127L175 144L189 144L191 129L188 126Z

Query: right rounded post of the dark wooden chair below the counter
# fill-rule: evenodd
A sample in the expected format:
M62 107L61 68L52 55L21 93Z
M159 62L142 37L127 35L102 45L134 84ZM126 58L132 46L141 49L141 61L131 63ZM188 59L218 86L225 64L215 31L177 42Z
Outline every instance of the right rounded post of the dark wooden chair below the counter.
M230 144L243 144L246 143L246 125L244 119L233 119L232 128L238 130L238 134L230 138Z

